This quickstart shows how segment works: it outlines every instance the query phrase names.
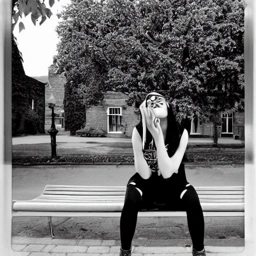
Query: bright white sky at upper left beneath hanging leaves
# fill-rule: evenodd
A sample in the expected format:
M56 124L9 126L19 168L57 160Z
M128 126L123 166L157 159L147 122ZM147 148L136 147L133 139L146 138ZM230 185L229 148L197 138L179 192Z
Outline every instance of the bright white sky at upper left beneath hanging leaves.
M23 67L26 75L40 76L48 75L48 66L52 64L52 56L56 54L56 45L58 42L55 27L58 24L56 16L62 10L62 6L70 3L70 0L55 0L50 8L52 15L47 18L41 25L41 18L34 25L31 21L31 14L22 19L19 17L15 25L13 34L17 38L18 49L22 53ZM49 8L48 0L45 1L46 7ZM19 33L18 23L22 21L25 30Z

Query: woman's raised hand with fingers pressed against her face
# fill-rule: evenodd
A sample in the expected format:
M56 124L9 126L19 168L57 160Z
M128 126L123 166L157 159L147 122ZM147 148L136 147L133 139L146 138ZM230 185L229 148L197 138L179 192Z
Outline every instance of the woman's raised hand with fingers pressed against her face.
M157 141L162 137L162 129L160 126L159 118L156 118L153 109L150 104L147 107L143 107L143 111L146 119L146 127L153 136L154 140ZM163 139L163 138L162 138Z

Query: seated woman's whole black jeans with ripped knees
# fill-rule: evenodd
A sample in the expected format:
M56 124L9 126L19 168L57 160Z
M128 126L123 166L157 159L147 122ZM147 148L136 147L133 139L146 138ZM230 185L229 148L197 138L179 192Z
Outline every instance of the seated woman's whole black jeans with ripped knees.
M184 192L184 190L186 191ZM155 208L155 205L160 208L163 204L166 204L169 209L186 211L193 248L195 250L203 249L204 219L194 187L187 181L177 182L170 178L163 179L161 176L156 175L151 176L149 179L142 179L138 173L135 173L127 183L124 206L120 218L122 249L129 250L131 248L138 211L140 209Z

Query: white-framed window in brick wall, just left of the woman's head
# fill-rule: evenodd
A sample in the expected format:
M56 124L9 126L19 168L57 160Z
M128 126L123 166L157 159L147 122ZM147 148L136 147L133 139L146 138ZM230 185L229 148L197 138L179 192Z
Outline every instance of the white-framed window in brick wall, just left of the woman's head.
M107 133L121 133L122 108L107 107Z

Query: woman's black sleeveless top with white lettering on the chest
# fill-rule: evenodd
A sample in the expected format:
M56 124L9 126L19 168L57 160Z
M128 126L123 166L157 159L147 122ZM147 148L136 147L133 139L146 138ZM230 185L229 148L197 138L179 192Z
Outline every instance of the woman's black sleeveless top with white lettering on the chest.
M142 125L139 123L136 126L136 129L141 137L142 140L142 134L143 134L143 128ZM181 125L178 124L178 128L179 129L184 129ZM180 131L182 131L180 130ZM180 134L182 134L182 132L180 132ZM180 135L181 136L181 135ZM148 140L149 139L149 140ZM146 140L150 141L152 139L152 136L150 134L150 136L148 136L148 134L146 134ZM179 137L180 139L180 137ZM165 144L165 148L166 151L168 153L168 156L171 157L175 151L176 148L172 148L171 145ZM153 141L151 141L149 143L149 145L147 146L146 150L143 150L143 154L144 154L144 158L147 162L147 165L149 166L149 168L152 171L151 177L153 178L160 178L163 179L162 175L158 176L157 174L157 170L158 170L158 164L157 164L157 156L156 156L156 150L155 150L155 145L153 143ZM185 156L183 156L182 161L184 160ZM171 181L178 181L178 182L187 182L186 180L186 175L185 175L185 168L184 168L184 163L180 163L179 168L178 168L178 172L177 173L173 173L168 179L171 179Z

